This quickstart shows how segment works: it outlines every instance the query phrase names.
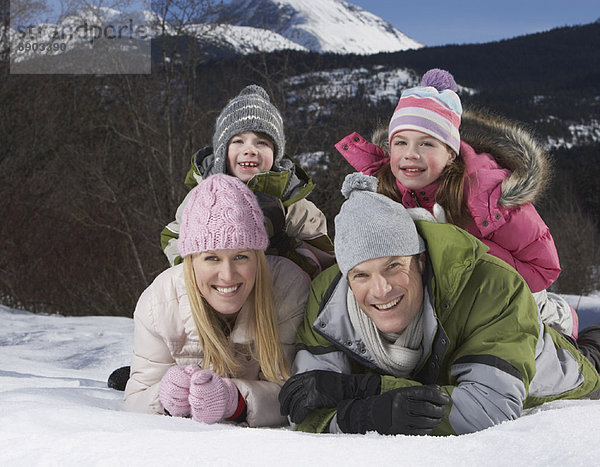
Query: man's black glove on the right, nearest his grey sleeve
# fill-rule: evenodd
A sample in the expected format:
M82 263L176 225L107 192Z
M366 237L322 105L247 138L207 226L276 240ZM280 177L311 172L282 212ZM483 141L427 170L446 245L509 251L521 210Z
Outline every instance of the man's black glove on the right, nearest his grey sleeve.
M436 385L398 388L341 402L337 424L344 433L427 435L442 422L449 402L450 396Z

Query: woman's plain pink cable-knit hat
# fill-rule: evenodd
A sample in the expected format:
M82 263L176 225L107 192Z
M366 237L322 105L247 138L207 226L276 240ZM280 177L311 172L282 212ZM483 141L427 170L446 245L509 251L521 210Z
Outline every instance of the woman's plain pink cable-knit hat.
M239 178L212 175L190 192L177 242L182 258L211 250L266 250L268 244L258 201Z

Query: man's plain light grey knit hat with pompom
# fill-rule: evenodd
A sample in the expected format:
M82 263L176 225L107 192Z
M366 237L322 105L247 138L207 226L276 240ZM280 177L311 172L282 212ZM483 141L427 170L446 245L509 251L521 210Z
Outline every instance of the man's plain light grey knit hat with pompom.
M412 256L425 251L406 208L376 193L378 180L362 173L346 176L347 201L335 217L335 256L345 276L356 265L384 256Z

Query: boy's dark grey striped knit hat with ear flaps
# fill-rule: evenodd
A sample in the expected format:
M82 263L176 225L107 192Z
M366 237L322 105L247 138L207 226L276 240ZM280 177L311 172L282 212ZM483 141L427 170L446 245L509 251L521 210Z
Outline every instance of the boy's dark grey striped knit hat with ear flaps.
M225 173L229 140L245 131L264 133L273 140L273 166L279 168L285 151L283 119L277 108L271 104L267 92L252 84L231 99L217 118L213 135L214 173Z

